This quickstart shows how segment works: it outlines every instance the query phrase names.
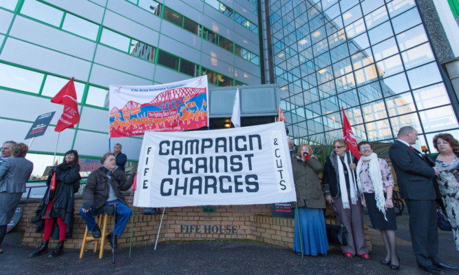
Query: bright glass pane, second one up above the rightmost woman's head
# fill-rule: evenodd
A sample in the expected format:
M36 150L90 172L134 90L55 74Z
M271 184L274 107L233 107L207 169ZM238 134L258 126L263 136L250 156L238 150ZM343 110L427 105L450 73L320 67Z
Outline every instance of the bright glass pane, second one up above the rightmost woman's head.
M434 108L440 105L449 104L450 102L443 83L414 90L413 95L418 110Z

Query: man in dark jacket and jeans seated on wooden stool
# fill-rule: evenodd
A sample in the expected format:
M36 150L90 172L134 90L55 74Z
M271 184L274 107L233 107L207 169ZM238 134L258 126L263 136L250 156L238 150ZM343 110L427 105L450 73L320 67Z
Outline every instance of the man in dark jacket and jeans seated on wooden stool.
M87 183L83 190L83 205L80 208L80 214L87 224L87 231L92 231L94 238L100 238L100 228L98 227L94 216L100 214L100 208L105 205L118 203L116 205L115 236L121 236L125 230L131 209L127 206L125 196L121 191L129 190L134 177L129 177L126 180L125 173L116 166L115 155L107 153L102 156L102 167L89 174ZM118 247L118 243L113 242L113 232L107 236L110 246L113 249Z

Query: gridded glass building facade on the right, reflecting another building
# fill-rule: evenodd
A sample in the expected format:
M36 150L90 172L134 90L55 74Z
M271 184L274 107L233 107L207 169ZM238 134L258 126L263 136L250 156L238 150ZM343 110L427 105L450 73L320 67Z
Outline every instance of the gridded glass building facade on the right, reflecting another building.
M295 139L392 142L412 125L418 145L459 124L414 0L268 0L270 79ZM446 81L449 81L446 79Z

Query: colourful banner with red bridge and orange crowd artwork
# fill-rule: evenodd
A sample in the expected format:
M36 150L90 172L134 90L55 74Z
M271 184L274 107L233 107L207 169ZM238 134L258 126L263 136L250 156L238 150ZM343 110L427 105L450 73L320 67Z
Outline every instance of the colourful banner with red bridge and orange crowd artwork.
M152 86L110 85L110 137L209 125L207 76Z

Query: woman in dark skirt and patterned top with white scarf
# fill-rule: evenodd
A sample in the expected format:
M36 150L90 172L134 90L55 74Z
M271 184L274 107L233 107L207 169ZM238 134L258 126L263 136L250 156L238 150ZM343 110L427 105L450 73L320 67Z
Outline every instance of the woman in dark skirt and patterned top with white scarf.
M362 156L357 163L357 186L363 194L363 206L367 207L373 228L380 230L383 237L387 254L381 263L396 270L400 261L396 254L397 224L392 200L394 181L387 162L378 159L370 143L362 141L358 147Z

